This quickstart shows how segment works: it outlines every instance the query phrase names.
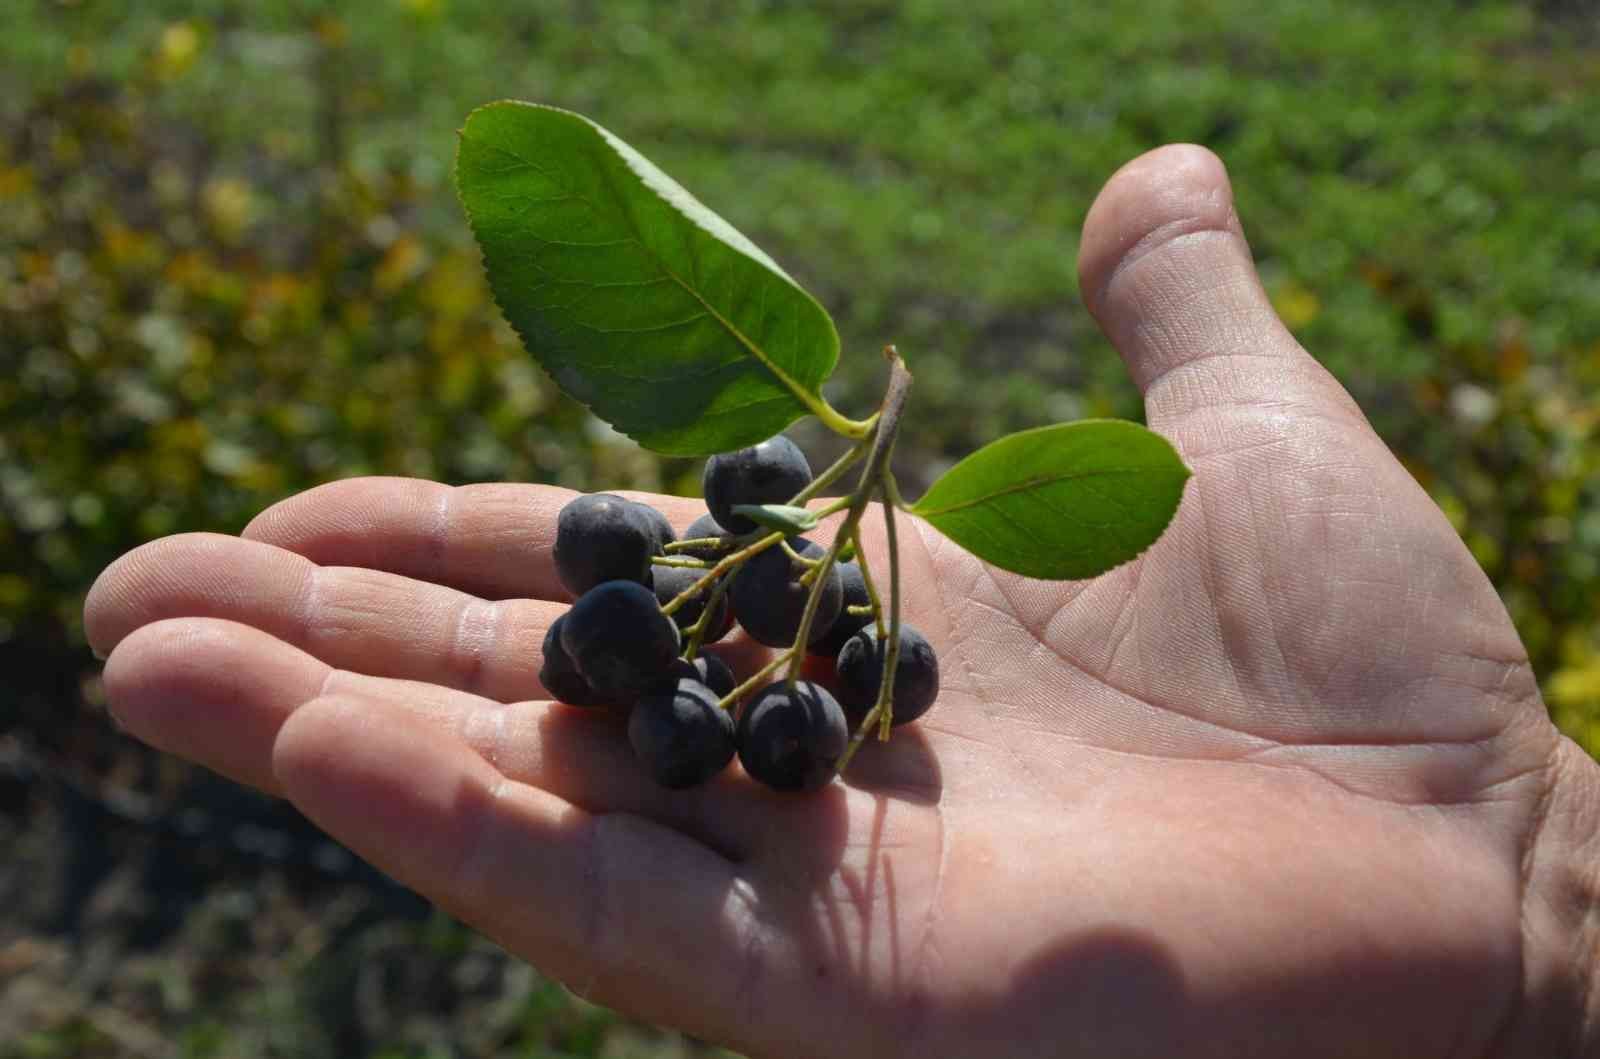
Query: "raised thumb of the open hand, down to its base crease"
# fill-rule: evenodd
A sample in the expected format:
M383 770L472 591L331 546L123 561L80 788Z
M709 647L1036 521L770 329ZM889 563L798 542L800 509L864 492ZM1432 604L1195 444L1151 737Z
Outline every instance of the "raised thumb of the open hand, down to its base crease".
M1227 170L1205 147L1158 147L1106 182L1083 222L1078 282L1152 427L1221 405L1272 405L1365 432L1350 395L1274 312Z

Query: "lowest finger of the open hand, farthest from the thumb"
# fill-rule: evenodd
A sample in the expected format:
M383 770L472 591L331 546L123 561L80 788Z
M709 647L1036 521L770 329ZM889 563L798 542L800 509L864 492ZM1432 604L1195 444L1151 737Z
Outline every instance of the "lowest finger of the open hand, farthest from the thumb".
M742 1029L730 998L752 979L803 982L760 894L717 851L510 779L422 718L318 697L285 720L272 768L330 835L603 1003L726 1038ZM750 995L773 1021L790 1006L765 1001Z

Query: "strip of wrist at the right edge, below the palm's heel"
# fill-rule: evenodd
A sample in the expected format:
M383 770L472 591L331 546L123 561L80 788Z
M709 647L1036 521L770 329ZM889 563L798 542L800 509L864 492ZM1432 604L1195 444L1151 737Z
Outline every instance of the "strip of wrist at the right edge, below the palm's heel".
M1523 992L1494 1056L1600 1056L1600 765L1563 736L1522 870Z

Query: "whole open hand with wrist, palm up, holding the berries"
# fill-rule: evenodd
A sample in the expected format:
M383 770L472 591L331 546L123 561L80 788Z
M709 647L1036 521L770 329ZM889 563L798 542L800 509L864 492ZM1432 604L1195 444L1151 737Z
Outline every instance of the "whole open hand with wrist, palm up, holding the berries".
M1120 170L1080 278L1195 472L1176 520L1070 584L902 520L944 689L822 792L662 792L619 720L542 701L542 486L338 482L139 547L86 605L112 709L576 992L755 1056L1600 1054L1600 769L1274 317L1221 163Z

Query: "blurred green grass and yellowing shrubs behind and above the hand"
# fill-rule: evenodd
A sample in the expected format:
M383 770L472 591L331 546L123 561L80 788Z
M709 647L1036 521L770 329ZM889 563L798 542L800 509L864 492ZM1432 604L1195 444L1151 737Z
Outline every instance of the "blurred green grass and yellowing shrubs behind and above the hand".
M448 174L464 115L514 96L613 128L813 290L843 411L898 342L907 483L1138 416L1077 232L1125 160L1211 146L1285 322L1600 750L1600 48L1565 6L13 0L0 653L88 670L107 561L330 478L694 488L560 397L486 296Z

